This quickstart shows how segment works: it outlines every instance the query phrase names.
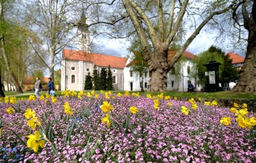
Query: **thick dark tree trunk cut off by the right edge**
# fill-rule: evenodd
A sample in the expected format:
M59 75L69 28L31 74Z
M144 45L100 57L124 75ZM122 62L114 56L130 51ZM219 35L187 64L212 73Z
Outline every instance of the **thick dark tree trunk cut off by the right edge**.
M239 17L242 13L243 17ZM237 3L233 18L236 25L248 31L248 45L243 67L240 71L235 92L256 92L256 1L244 0ZM240 22L240 21L243 22Z

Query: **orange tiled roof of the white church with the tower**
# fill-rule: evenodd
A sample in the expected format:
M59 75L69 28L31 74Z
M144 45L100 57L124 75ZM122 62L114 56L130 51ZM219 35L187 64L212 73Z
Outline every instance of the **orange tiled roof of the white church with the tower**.
M76 50L63 50L63 57L70 60L83 60L93 62L95 66L115 67L124 69L127 61L124 57L115 57L112 55L105 55L101 53L81 52Z

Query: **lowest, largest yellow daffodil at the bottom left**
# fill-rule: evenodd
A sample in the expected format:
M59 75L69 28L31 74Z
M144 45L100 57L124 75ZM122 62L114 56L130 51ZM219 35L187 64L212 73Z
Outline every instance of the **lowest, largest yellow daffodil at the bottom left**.
M45 142L44 139L41 138L41 134L39 131L35 131L35 135L27 136L29 139L27 141L28 148L32 148L34 152L38 151L38 147L44 148Z

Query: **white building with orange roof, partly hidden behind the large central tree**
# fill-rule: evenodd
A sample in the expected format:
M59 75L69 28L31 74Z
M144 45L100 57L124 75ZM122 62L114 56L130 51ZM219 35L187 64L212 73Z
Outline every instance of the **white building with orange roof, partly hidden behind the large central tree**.
M171 59L174 54L174 51L168 52L168 59ZM131 52L124 68L124 90L140 91L141 87L143 87L143 90L147 90L150 74L148 73L148 70L143 74L132 71L131 64L134 62L132 60L133 55L134 52ZM196 55L185 51L183 56L184 60L180 61L180 65L178 66L176 64L175 67L167 73L167 90L188 91L189 81L200 90L202 86L198 84L199 82L196 79L196 74L193 72L194 64L192 60L196 58Z

